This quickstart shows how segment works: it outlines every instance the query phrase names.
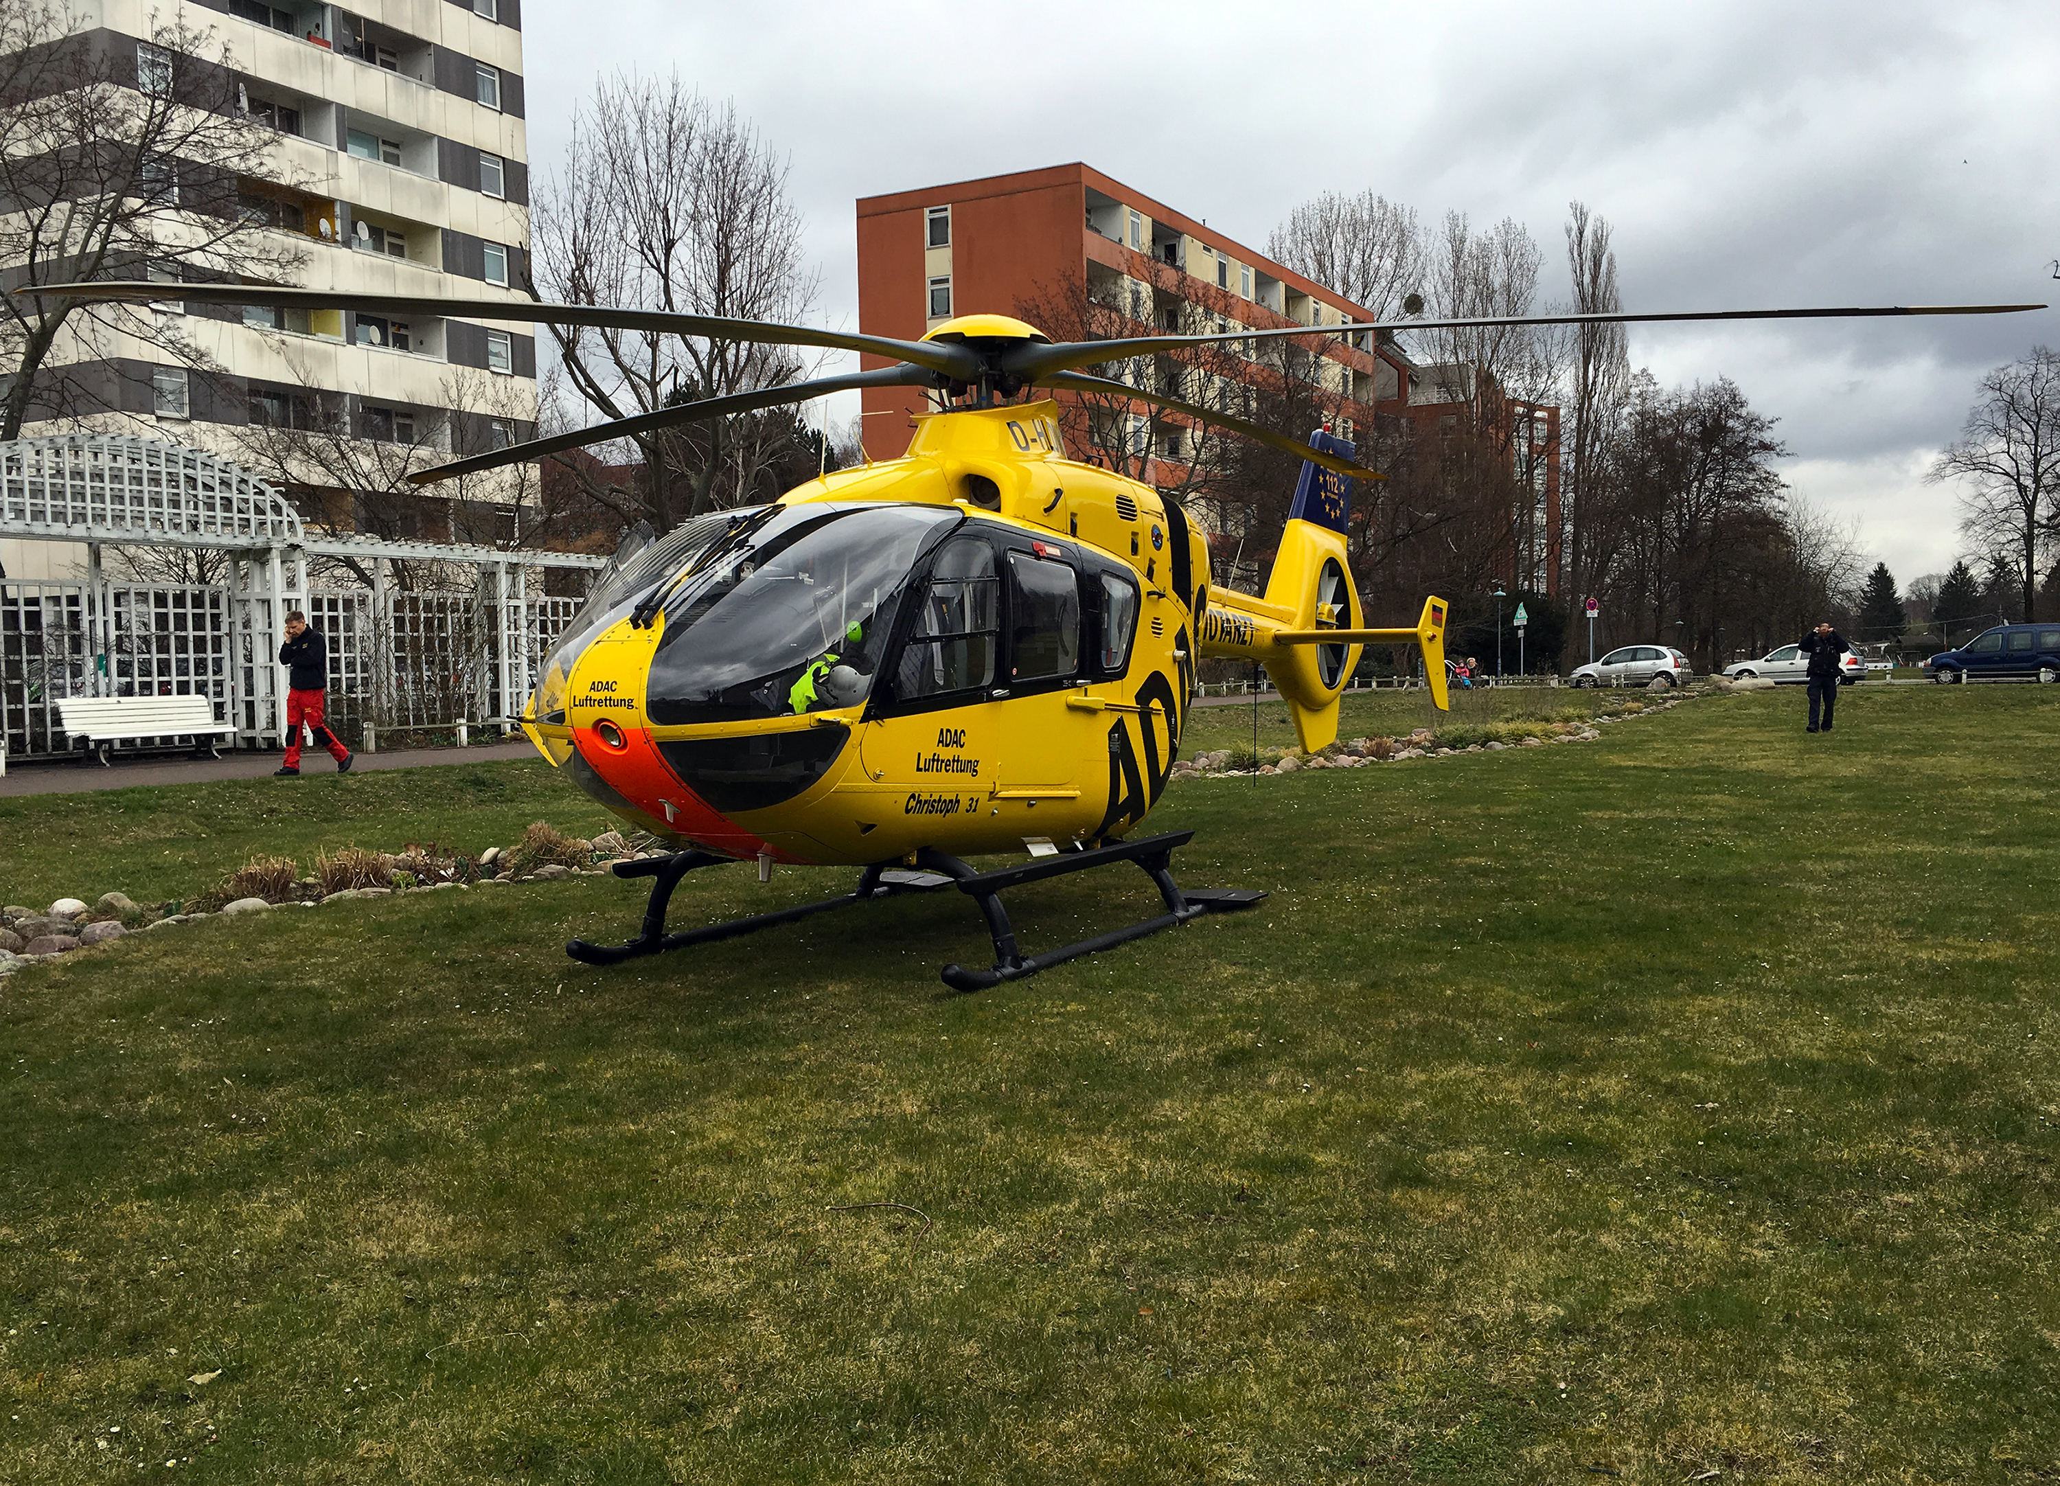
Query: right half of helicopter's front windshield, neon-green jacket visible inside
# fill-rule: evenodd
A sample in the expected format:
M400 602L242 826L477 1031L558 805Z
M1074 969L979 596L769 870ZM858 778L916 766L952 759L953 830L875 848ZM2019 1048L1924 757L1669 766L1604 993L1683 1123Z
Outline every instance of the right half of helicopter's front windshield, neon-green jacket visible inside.
M651 721L793 717L865 701L911 571L962 519L911 505L779 511L665 602Z

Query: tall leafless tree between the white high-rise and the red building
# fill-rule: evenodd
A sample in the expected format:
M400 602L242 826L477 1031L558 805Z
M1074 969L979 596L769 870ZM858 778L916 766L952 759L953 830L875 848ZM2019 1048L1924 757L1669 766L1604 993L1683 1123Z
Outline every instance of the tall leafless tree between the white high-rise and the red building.
M564 167L536 196L534 291L735 319L805 319L816 274L787 163L729 105L670 80L616 74L573 120ZM552 328L566 387L602 418L795 381L783 346L628 330ZM645 480L589 480L589 497L665 530L715 505L766 499L764 472L793 453L793 416L744 414L639 435Z

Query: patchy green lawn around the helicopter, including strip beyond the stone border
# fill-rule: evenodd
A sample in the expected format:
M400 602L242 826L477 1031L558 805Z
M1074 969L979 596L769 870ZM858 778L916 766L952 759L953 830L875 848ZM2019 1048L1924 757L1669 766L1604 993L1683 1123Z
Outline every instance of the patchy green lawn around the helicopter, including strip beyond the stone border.
M1273 897L970 998L956 892L593 971L593 878L23 971L0 1480L2050 1480L2056 693L1182 783ZM496 769L348 826L583 822ZM237 789L165 812L342 829ZM64 804L35 859L150 890L152 802Z

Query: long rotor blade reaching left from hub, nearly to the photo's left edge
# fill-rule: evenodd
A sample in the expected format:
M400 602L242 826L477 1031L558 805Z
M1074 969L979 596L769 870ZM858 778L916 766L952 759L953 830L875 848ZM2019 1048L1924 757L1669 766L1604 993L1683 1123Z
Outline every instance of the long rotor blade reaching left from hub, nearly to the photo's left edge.
M643 330L670 336L748 340L762 346L818 346L822 350L863 350L927 367L943 377L976 381L985 359L941 340L890 340L849 336L840 330L779 326L764 319L682 315L670 309L614 309L610 305L546 305L536 299L445 299L431 295L350 295L328 289L272 289L268 284L161 284L103 280L87 284L33 284L14 291L21 299L185 299L196 305L278 305L282 309L360 309L373 315L466 315L472 319L521 319L542 326L589 326L593 330Z

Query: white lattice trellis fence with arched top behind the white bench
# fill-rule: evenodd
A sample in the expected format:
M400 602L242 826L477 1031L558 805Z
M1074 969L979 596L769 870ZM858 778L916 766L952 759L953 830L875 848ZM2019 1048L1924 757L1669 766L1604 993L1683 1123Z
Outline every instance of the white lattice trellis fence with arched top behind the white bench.
M544 573L606 563L309 534L272 486L218 455L109 435L0 443L0 540L87 546L80 579L0 579L0 761L68 752L64 697L200 695L239 746L278 744L293 608L330 641L330 717L346 738L505 723L579 608L546 596ZM109 546L214 552L227 577L113 577ZM371 581L309 587L311 556L352 559ZM393 561L470 581L398 589Z

